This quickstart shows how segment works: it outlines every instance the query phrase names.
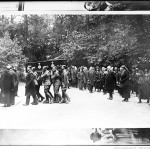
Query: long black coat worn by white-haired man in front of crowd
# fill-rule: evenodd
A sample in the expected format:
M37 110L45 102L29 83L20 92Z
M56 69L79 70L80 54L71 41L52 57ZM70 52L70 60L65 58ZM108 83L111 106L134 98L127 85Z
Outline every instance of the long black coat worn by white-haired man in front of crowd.
M116 76L114 72L110 71L106 75L106 81L105 81L105 87L107 92L113 92L113 90L115 89L115 85L116 85Z

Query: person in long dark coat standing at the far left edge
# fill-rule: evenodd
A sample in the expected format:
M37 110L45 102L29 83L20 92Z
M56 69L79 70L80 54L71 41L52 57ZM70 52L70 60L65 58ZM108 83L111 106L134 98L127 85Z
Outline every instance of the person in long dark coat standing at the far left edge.
M14 99L14 78L11 70L11 66L8 65L1 78L1 94L4 103L4 107L10 107L12 100Z

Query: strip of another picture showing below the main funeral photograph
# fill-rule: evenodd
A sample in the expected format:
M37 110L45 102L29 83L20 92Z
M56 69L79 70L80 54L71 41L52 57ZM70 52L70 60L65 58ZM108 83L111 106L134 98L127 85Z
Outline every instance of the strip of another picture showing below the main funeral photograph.
M0 130L0 145L149 145L149 130L146 128L99 128L97 131L94 129L4 129Z

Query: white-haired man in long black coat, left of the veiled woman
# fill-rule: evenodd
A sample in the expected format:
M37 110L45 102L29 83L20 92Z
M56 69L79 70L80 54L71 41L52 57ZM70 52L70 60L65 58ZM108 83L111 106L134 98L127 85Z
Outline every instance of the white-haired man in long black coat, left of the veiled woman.
M116 77L114 72L112 71L112 67L108 66L107 67L107 75L106 75L106 82L105 82L105 86L106 86L106 91L109 93L109 98L110 100L113 99L113 91L115 89L115 85L116 85Z

